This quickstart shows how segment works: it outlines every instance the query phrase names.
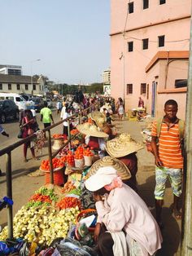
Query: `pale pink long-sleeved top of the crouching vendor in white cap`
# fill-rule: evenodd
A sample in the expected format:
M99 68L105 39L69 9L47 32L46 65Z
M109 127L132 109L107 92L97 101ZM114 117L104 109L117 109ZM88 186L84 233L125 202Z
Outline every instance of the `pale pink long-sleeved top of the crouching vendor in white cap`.
M142 198L132 188L111 190L104 201L96 202L98 223L103 222L110 232L124 231L140 243L149 254L161 248L159 226Z

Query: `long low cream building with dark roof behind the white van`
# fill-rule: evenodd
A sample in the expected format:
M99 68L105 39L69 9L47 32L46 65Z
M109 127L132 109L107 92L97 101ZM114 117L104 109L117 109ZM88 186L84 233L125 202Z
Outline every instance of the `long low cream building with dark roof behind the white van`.
M0 74L0 92L44 95L45 79L43 76L30 77Z

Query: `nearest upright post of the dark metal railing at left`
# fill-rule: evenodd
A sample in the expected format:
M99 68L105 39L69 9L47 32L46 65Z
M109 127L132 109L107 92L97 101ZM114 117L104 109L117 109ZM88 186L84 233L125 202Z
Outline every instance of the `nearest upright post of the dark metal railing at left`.
M7 197L12 199L12 174L11 174L11 152L7 153L6 160L6 174L7 174ZM13 238L13 209L12 205L7 205L8 215L8 238Z

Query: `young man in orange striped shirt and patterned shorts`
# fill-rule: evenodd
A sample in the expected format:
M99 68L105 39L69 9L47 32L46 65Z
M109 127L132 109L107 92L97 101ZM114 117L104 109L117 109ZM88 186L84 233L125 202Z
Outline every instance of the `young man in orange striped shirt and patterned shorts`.
M181 196L183 157L177 110L177 102L169 99L164 104L165 115L159 135L157 121L154 121L151 131L151 147L155 155L155 209L159 227L163 226L161 211L164 203L165 183L168 177L174 194L173 212L176 218L181 218L178 201ZM157 140L159 146L157 146Z

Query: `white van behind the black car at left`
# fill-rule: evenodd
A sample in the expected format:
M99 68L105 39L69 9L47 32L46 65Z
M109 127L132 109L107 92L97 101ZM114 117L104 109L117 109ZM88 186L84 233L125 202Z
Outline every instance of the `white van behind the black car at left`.
M26 109L26 101L25 99L16 93L9 92L0 92L0 100L11 99L18 106L19 110Z

